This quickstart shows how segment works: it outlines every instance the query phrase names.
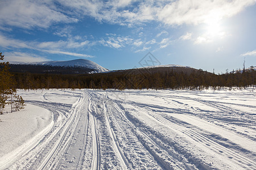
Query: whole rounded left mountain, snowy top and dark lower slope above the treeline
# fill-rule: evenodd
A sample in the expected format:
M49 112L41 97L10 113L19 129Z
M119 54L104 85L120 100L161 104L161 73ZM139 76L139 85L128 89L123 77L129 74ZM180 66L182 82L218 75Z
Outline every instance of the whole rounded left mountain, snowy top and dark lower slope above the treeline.
M73 59L71 61L45 61L45 62L10 62L13 72L30 73L63 73L85 74L102 73L109 71L88 59Z

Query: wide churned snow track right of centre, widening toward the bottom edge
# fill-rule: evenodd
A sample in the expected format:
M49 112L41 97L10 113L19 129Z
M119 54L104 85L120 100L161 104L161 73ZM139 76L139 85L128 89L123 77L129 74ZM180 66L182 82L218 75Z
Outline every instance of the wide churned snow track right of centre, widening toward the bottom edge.
M112 94L110 94L112 95ZM120 109L114 100L107 95L106 103L107 112L109 113L112 127L117 134L117 140L122 147L124 155L129 163L129 169L172 169L162 158L156 155L150 147L151 142L146 144L143 139L146 138L137 129L132 122L126 117L122 109ZM155 147L156 148L156 147ZM156 148L156 150L158 150ZM153 154L153 155L152 155ZM155 154L155 155L154 155ZM161 162L162 161L162 162ZM184 169L184 168L179 168Z

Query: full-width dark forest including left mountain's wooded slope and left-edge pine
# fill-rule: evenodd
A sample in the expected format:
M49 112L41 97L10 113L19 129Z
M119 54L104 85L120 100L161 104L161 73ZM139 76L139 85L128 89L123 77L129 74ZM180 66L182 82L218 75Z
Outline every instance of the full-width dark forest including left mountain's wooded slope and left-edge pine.
M1 59L3 60L2 53ZM94 88L125 89L189 89L220 90L232 87L246 88L256 85L256 71L243 69L225 74L214 74L191 67L152 67L92 73L92 69L71 66L15 65L1 62L1 103L15 95L16 88L37 90L42 88Z

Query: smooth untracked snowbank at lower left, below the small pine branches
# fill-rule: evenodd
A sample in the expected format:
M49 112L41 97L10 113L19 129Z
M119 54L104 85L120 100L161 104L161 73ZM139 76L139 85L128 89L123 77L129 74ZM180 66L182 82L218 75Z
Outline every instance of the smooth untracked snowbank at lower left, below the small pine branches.
M31 146L35 137L38 141L40 134L51 129L53 122L50 111L31 104L27 104L25 109L19 112L6 114L5 111L5 114L0 115L0 119L0 164L11 159L8 155L18 154L25 145Z

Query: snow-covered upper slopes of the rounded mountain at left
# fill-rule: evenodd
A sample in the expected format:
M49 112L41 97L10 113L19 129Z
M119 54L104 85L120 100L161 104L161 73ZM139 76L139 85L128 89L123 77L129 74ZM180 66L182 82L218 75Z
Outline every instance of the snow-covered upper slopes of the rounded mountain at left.
M109 71L104 67L98 65L97 63L90 61L88 59L73 59L69 61L43 61L43 62L11 62L13 64L32 64L32 65L51 65L51 66L77 66L86 67L93 69L92 73L102 73Z

